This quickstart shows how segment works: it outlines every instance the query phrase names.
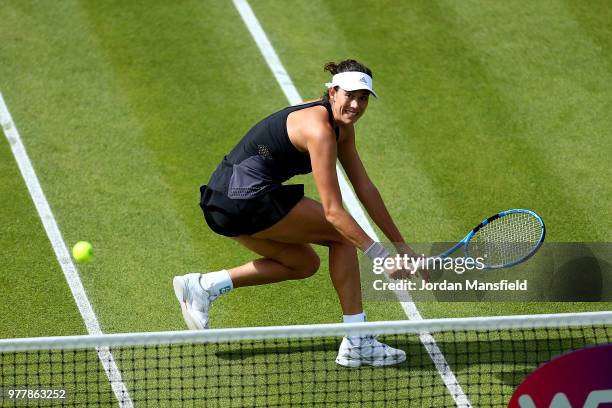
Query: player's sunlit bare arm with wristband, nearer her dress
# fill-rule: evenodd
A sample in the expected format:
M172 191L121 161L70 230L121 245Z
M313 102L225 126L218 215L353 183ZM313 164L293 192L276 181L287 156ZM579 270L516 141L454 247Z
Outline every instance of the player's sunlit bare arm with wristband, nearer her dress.
M357 248L365 250L372 244L372 238L342 205L342 194L336 173L338 151L331 126L321 126L309 132L306 145L325 218Z

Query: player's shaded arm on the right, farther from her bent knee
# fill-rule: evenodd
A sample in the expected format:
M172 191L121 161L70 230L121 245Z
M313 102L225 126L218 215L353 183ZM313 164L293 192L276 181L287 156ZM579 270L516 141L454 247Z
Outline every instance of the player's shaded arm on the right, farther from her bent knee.
M378 188L374 185L359 157L355 146L355 130L352 126L342 128L342 137L338 141L338 159L346 172L357 198L364 205L372 220L378 225L389 241L393 242L399 253L418 256L404 240L393 222Z

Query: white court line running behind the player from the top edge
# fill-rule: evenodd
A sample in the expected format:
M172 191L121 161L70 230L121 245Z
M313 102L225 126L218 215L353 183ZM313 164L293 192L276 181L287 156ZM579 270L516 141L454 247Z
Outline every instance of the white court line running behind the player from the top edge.
M261 27L261 24L259 24L257 17L251 9L251 6L247 2L247 0L233 1L234 6L242 16L244 23L246 24L247 28L249 29L249 32L255 40L255 43L257 43L257 47L259 47L259 51L268 63L268 66L272 70L274 77L278 81L278 84L281 86L281 89L289 100L289 103L292 105L301 103L303 99L300 97L297 89L293 85L291 77L289 77L289 74L285 70L285 67L278 58L278 55L272 47L272 44L270 44L268 36ZM363 230L374 239L374 241L380 242L379 237L377 236L376 232L374 231L374 228L368 221L368 218L366 217L363 209L361 208L361 205L359 204L355 193L349 186L346 177L344 176L344 173L338 164L336 164L336 171L338 173L338 182L340 183L342 199L348 207L349 212L351 213L353 218L355 218L355 220L359 223L359 225L361 225ZM404 309L404 313L406 313L410 320L423 320L421 313L419 313L418 309L416 308L416 305L412 301L412 297L408 292L395 291L395 294L402 308ZM434 365L436 366L440 377L442 377L444 384L446 384L446 387L450 391L451 396L455 400L457 406L471 407L472 405L469 399L461 389L461 386L459 385L455 374L446 362L446 359L444 358L442 351L436 344L433 336L428 332L423 332L419 335L419 337L421 339L421 342L425 346L425 349L429 353L429 356L431 357Z

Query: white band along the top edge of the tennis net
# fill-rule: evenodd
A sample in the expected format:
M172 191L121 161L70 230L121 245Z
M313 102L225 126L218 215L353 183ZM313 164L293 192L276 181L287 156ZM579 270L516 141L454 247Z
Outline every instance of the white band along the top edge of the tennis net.
M584 325L612 325L612 311L2 339L0 340L0 353L27 350L200 344L239 340L398 333L422 334L454 330L486 331Z

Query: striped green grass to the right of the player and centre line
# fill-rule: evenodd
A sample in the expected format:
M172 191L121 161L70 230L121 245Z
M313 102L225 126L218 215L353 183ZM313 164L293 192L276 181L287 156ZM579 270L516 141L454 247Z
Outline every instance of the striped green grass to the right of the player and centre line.
M321 92L323 61L351 56L374 70L380 98L358 125L358 146L409 241L458 240L512 207L540 213L549 242L610 241L605 2L573 12L563 2L417 1L375 12L368 2L299 2L295 12L310 17L297 21L283 18L280 4L254 8L303 95ZM420 309L433 317L610 306Z

